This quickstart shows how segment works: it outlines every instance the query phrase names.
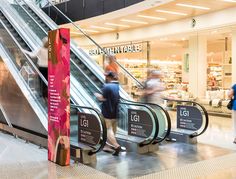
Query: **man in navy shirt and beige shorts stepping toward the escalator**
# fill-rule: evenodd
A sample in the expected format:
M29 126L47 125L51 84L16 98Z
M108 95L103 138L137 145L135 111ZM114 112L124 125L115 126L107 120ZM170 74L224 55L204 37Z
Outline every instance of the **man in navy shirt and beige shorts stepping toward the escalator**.
M112 72L106 72L106 84L102 88L102 94L95 93L99 101L102 102L102 114L105 118L107 126L107 141L108 144L114 146L115 150L113 155L118 156L121 151L121 146L118 144L115 134L117 131L117 116L118 116L118 103L120 100L119 82L117 75ZM104 149L109 149L106 145Z

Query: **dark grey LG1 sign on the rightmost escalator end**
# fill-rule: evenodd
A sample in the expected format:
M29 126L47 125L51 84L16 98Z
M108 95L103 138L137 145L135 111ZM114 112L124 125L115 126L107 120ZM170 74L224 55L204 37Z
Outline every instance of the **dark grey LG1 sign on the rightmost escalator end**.
M194 106L177 106L177 128L196 131L202 126L202 113Z

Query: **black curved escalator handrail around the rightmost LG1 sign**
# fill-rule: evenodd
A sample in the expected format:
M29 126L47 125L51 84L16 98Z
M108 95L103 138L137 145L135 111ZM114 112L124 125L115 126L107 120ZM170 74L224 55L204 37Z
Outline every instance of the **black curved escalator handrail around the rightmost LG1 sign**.
M197 137L197 136L200 136L202 135L208 128L208 124L209 124L209 116L208 116L208 113L207 113L207 110L199 103L195 102L195 101L188 101L188 100L178 100L178 99L170 99L170 98L163 98L163 100L167 100L167 101L174 101L174 102L181 102L181 103L192 103L192 104L195 104L197 106L199 106L203 113L204 113L204 116L205 116L205 125L204 125L204 128L202 129L201 132L199 133L196 133L194 132L193 134L190 134L190 137L191 138L194 138L194 137Z

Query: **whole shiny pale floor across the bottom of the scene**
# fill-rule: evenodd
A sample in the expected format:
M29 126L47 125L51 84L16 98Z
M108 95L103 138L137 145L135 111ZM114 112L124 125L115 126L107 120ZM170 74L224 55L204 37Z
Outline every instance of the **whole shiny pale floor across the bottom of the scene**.
M174 122L174 121L173 121ZM101 152L97 163L60 167L47 161L47 151L0 132L0 178L236 178L236 145L231 119L210 117L197 145L166 142L155 153Z

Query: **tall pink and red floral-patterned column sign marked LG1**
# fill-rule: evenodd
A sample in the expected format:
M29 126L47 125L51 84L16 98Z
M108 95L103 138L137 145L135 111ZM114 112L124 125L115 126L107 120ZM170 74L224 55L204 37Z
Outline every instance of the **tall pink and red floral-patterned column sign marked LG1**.
M70 164L70 32L48 33L48 160Z

